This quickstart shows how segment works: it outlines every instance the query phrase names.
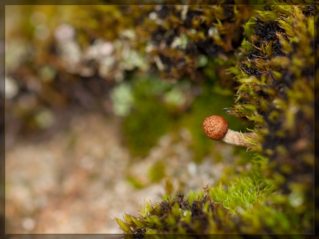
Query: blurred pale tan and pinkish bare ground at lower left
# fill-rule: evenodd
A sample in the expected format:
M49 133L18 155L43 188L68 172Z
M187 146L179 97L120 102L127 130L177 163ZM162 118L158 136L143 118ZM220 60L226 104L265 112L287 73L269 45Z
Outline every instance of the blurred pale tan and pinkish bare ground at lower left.
M231 164L193 162L185 128L163 135L146 157L133 157L120 117L69 111L58 121L64 126L47 139L6 135L5 233L122 233L113 218L137 216L145 201L161 202L167 182L172 196L202 191ZM232 146L215 147L232 157ZM159 162L165 177L152 180Z

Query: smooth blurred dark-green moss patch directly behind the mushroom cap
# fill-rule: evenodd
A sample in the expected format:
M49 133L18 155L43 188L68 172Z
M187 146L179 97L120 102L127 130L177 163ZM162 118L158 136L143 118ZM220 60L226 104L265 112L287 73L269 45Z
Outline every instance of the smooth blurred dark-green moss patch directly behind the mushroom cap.
M234 116L226 113L225 109L234 99L231 94L218 94L215 90L217 84L218 79L206 81L201 87L203 91L200 95L193 95L194 100L190 102L186 102L185 91L191 92L186 80L169 83L158 76L142 75L134 76L130 83L122 83L115 88L113 92L124 87L131 89L131 93L125 91L119 94L115 105L125 101L127 94L134 96L134 103L130 100L123 104L126 108L132 105L132 112L123 123L123 134L132 155L146 156L161 136L184 127L196 139L192 149L195 152L194 160L200 162L204 156L214 152L214 141L207 140L202 130L202 122L208 115L222 115L233 130L245 132L247 127L253 127L252 124L243 126Z

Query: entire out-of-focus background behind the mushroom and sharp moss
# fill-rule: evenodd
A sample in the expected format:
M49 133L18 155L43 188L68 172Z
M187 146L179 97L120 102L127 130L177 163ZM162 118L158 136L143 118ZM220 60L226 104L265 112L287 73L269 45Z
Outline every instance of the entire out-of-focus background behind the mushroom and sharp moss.
M122 233L114 217L249 167L202 131L213 114L253 128L226 109L242 27L214 45L195 14L213 9L190 8L5 6L6 233Z

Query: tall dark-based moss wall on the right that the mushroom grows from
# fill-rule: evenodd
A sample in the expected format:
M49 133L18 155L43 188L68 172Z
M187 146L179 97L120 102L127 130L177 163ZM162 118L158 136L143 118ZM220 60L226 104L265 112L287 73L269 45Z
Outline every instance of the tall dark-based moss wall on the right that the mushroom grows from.
M306 9L271 6L257 15L255 34L242 44L233 109L255 122L255 149L273 165L268 176L289 198L299 197L304 212L313 208L314 166L314 17Z

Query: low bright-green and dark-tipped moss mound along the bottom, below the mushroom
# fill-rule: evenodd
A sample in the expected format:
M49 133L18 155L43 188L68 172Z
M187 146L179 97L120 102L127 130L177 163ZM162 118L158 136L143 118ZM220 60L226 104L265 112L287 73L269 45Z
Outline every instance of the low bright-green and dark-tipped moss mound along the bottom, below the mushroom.
M259 173L267 159L255 155L254 160L253 168L228 181L226 188L207 185L204 194L190 192L188 197L176 195L152 205L147 202L137 217L124 214L124 221L116 221L133 238L147 234L286 234L311 227L309 218L296 217L285 201L278 203L285 199L274 191L274 182Z

